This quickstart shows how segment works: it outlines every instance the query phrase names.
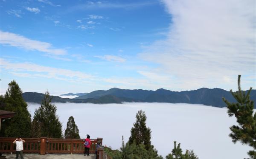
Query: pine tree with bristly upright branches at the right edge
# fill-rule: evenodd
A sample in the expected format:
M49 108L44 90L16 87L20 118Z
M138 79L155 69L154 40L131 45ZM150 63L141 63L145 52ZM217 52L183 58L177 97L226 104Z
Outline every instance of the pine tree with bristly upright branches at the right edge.
M228 115L235 115L236 121L239 124L230 127L232 133L229 136L234 143L240 141L243 144L253 147L254 150L250 150L248 155L256 159L256 113L253 114L254 102L250 100L250 91L252 88L249 89L247 94L245 91L242 91L240 78L241 75L238 76L238 91L233 92L230 90L237 102L230 103L223 97L224 102L227 104Z

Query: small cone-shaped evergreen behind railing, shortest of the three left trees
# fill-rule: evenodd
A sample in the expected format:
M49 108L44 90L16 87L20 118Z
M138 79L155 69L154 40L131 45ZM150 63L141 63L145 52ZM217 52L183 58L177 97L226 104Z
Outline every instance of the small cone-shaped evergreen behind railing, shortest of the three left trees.
M68 118L67 128L65 130L65 138L66 139L80 139L79 130L74 121L73 116Z

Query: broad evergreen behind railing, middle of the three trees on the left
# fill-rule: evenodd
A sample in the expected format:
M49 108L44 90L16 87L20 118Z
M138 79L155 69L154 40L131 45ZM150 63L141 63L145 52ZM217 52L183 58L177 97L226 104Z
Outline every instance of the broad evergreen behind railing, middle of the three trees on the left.
M45 92L41 107L35 110L33 123L40 125L41 136L48 138L62 138L62 125L56 115L57 108L51 103L49 92ZM37 130L39 131L39 130Z

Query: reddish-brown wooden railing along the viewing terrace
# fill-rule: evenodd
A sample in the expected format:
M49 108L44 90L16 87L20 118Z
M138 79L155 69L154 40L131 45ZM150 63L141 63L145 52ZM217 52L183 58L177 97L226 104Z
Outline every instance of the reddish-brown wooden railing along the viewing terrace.
M41 138L23 138L26 142L23 143L23 153L84 153L84 139L48 139ZM0 153L14 153L16 145L12 142L15 138L0 137ZM89 153L95 153L96 144L102 138L91 139ZM102 156L103 149L98 150Z

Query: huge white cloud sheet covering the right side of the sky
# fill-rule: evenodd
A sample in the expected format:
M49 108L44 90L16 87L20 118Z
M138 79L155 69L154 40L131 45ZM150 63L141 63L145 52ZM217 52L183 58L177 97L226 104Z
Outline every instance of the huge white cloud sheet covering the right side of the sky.
M172 16L167 38L139 54L175 77L177 87L226 88L238 74L256 81L254 0L162 0Z

